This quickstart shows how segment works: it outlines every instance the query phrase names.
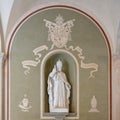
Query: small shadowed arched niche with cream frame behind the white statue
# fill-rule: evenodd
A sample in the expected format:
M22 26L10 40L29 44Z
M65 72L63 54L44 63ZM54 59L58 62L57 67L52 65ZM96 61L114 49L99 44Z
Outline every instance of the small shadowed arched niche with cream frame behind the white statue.
M79 63L76 57L66 50L54 50L48 53L41 63L41 111L43 113L49 112L48 94L47 94L47 82L48 75L52 71L57 60L61 60L63 63L62 71L66 74L67 80L71 85L70 105L69 112L79 112ZM76 94L75 94L76 93Z

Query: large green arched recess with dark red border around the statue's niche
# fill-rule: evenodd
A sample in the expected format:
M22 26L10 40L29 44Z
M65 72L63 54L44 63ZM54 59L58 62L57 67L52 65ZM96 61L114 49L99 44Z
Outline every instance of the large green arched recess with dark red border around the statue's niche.
M75 19L74 27L71 29L72 41L67 41L68 49L65 49L65 47L58 49L55 46L51 50L53 43L48 41L48 28L45 26L44 19L55 22L54 20L59 14L63 16L65 22ZM34 50L37 51L40 47L46 49L41 49L39 51L41 54L38 52L35 54ZM84 63L98 65L98 71L93 73L94 78L89 79L92 68L81 67L81 56L79 56L80 53L78 53L77 48L82 52ZM78 92L74 94L77 98L75 96L75 101L74 99L71 100L72 104L70 106L70 112L77 112L77 117L70 119L109 120L110 118L112 120L110 45L99 23L87 13L69 6L49 6L34 11L15 28L8 44L7 54L7 120L52 119L43 116L44 112L48 112L47 94L44 95L44 93L47 91L48 74L56 62L55 58L58 57L64 58L64 69L68 74L70 83L72 84L74 79L77 79L74 82L78 83L75 88ZM40 61L38 57L41 57ZM68 58L70 59L68 60ZM31 61L34 64L31 64ZM73 64L70 61L73 61ZM23 62L26 64L22 66ZM50 68L46 70L49 63ZM78 73L72 70L74 64L75 69L77 69L76 72L79 71ZM72 68L71 73L75 77L74 79L69 76L71 74L68 68ZM27 75L24 74L26 70ZM24 94L28 95L32 105L27 114L18 107ZM100 110L98 114L88 112L91 107L91 98L94 95L97 98ZM78 102L75 103L76 101Z

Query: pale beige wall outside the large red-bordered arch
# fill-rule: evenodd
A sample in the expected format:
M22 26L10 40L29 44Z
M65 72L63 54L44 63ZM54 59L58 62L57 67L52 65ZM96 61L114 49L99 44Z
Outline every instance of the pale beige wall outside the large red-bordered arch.
M0 120L7 120L7 62L4 64L3 56L6 57L8 43L16 26L31 12L50 5L67 5L83 10L91 15L104 29L109 38L112 51L112 114L113 120L120 120L120 48L119 48L119 21L120 1L119 0L0 0ZM81 47L81 46L80 46ZM83 49L83 48L82 48ZM84 49L85 50L85 49ZM83 52L84 53L84 52ZM8 61L8 59L6 59ZM93 61L92 61L93 62ZM5 116L5 117L4 117Z

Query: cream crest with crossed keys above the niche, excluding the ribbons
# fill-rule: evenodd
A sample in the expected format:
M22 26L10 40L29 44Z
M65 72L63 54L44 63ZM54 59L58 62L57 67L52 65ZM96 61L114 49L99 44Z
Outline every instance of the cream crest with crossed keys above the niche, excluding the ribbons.
M48 40L53 42L52 48L63 48L67 42L71 40L71 27L74 26L75 19L64 22L61 15L55 19L56 23L44 19L46 27L48 28Z

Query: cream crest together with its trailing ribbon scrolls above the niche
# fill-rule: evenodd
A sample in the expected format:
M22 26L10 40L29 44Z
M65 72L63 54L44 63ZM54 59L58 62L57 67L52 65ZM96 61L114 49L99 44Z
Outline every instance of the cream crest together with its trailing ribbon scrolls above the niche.
M35 55L34 60L25 60L22 61L22 66L25 68L24 74L28 75L30 73L31 67L36 67L42 61L42 52L46 51L46 54L51 50L54 51L57 49L64 49L66 51L74 51L77 53L77 56L80 60L80 67L84 69L91 69L89 78L93 78L94 72L98 71L98 64L96 63L84 63L85 56L83 56L82 48L79 46L67 46L69 41L72 41L71 38L71 28L74 26L75 19L64 22L63 17L59 14L55 22L51 22L47 19L44 19L45 27L48 28L48 41L51 42L51 47L47 45L42 45L33 50Z

